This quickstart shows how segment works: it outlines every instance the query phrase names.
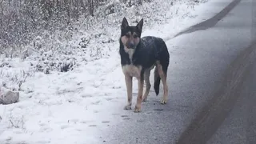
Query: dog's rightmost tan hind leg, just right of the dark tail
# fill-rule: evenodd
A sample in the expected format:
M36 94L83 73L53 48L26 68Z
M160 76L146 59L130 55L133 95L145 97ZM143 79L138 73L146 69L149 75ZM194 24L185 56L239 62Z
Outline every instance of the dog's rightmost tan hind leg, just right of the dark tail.
M162 100L161 100L161 104L166 104L167 102L167 97L168 97L168 86L167 86L167 82L166 82L166 78L167 78L167 71L163 70L161 63L158 61L156 62L157 65L157 69L158 69L158 74L162 80L162 85L163 85L163 96L162 96Z

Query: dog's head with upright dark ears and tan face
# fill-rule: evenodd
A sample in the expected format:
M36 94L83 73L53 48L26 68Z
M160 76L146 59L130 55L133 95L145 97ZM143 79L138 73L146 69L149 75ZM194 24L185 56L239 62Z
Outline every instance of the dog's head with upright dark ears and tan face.
M142 34L143 18L138 22L137 26L129 26L127 19L122 19L121 25L121 42L127 49L134 49Z

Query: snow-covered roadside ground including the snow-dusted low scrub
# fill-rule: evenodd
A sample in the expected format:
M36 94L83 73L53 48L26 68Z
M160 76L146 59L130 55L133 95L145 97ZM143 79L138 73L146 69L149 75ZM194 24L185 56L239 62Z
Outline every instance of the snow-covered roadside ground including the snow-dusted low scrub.
M190 1L183 0L170 6L170 2L158 1L126 10L137 11L141 17L137 18L133 12L124 15L128 22L145 16L142 36L168 40L204 20L202 12L212 13L210 6L205 8L210 2L191 6ZM150 7L156 11L146 14ZM102 143L99 134L122 121L118 115L127 112L123 110L126 86L118 54L123 15L110 15L107 21L112 20L110 17L116 21L113 26L99 23L90 32L78 29L77 35L65 44L70 49L59 46L66 54L47 50L30 52L25 59L0 57L0 82L7 89L20 92L19 102L0 105L0 143ZM36 39L42 42L40 37ZM57 46L58 41L53 43ZM174 48L169 46L169 50L171 56ZM72 70L62 72L61 67L65 69L66 64ZM135 82L133 90L136 93Z

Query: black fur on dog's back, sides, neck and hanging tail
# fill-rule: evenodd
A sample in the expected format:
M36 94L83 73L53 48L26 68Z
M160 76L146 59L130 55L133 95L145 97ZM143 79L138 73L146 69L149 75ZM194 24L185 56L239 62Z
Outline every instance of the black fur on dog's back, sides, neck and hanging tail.
M121 65L142 66L142 74L144 70L149 69L151 66L155 65L156 61L159 61L162 65L162 70L167 74L167 69L169 66L170 54L168 52L166 43L162 38L157 38L153 36L146 36L140 39L138 46L134 50L133 57L130 61L129 55L125 52L124 46L120 39L120 49L119 53L121 55ZM154 91L159 94L160 80L159 74L154 74Z

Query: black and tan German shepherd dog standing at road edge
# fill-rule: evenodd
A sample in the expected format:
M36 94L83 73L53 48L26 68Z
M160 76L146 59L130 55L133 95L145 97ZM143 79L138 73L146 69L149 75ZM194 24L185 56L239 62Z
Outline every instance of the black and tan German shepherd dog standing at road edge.
M166 104L168 86L166 83L167 68L169 66L170 54L166 43L162 38L147 36L141 38L143 18L137 26L129 26L127 19L122 19L121 37L119 39L119 54L121 56L122 72L126 79L126 90L128 104L125 110L131 110L132 104L132 78L138 79L138 97L134 112L140 112L142 101L150 92L150 70L154 69L154 91L159 94L160 80L163 85L163 96L161 103ZM142 97L144 80L146 91Z

